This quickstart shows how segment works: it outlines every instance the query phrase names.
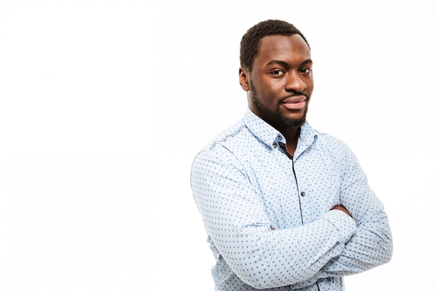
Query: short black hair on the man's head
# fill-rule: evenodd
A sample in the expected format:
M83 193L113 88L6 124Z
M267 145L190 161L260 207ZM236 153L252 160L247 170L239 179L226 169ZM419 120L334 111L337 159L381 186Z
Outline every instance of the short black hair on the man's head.
M249 72L251 72L253 59L255 59L256 54L258 54L260 40L264 36L291 36L292 34L299 34L299 36L302 36L302 38L305 40L305 43L309 47L309 43L306 40L305 36L293 24L290 24L283 20L265 20L258 24L255 24L246 33L244 33L244 36L240 43L240 65L249 70Z

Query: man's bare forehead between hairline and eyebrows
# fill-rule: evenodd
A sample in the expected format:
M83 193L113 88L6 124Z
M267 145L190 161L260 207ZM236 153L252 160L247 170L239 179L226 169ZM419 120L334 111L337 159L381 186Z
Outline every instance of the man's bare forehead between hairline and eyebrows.
M311 51L305 40L299 34L291 36L265 36L260 40L258 54L253 64L263 64L269 61L286 61L290 64L311 59Z

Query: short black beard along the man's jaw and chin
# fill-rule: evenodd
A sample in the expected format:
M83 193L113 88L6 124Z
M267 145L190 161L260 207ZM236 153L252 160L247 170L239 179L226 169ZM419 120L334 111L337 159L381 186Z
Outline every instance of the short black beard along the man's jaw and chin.
M260 98L258 98L258 94L253 86L252 80L249 82L249 89L252 93L253 105L255 105L256 109L260 114L260 118L270 124L276 130L286 129L286 128L298 128L303 126L306 121L306 112L308 111L308 105L305 106L304 114L302 117L297 119L284 117L279 107L281 105L281 100L278 102L276 106L276 110L269 110L269 108L265 107L264 104L261 103Z

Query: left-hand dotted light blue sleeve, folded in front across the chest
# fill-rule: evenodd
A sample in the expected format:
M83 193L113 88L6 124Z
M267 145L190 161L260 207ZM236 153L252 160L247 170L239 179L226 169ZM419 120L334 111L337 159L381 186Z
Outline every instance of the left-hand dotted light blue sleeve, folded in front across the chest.
M191 187L207 233L244 283L263 289L307 282L341 256L357 229L350 216L328 211L312 223L271 230L244 167L217 147L196 156Z

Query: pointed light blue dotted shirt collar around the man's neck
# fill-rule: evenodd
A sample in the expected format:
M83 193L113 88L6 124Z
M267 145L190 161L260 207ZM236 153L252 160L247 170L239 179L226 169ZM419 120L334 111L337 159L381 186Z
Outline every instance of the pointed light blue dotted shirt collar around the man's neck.
M247 128L251 130L251 133L271 149L276 148L279 142L286 142L286 139L278 130L260 119L249 109L244 114L243 121ZM306 148L310 147L316 141L317 136L318 132L311 127L308 121L305 121L300 129L295 156L299 156Z

